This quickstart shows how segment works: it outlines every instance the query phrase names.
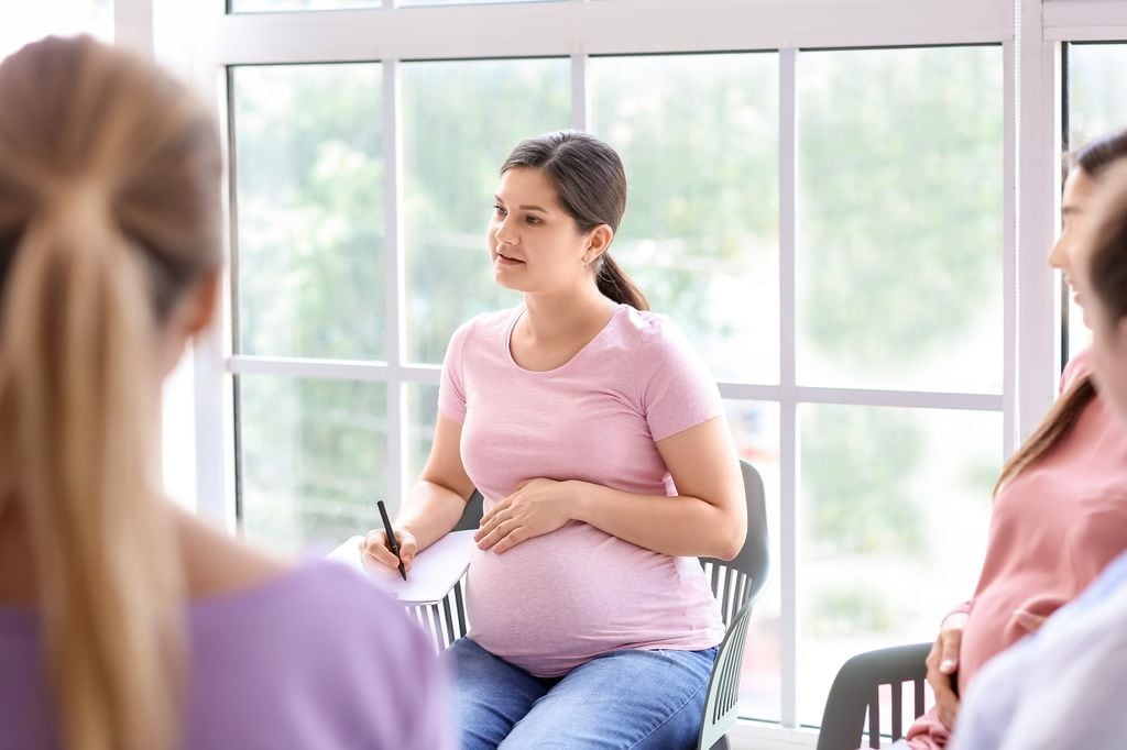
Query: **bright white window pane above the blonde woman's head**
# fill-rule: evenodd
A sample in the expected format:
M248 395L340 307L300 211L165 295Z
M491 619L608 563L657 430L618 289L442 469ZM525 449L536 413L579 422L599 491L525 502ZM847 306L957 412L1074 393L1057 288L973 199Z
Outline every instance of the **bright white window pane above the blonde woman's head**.
M55 34L114 41L113 0L24 0L0 8L0 60L28 42Z

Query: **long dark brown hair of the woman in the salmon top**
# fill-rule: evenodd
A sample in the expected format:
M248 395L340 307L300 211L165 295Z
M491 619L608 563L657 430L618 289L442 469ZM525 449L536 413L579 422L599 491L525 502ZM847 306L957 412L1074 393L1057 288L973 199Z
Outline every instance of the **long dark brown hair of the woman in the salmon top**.
M1081 169L1092 179L1099 179L1116 161L1127 157L1127 130L1098 139L1067 155L1070 170ZM1020 474L1029 464L1051 449L1080 419L1081 412L1095 398L1090 373L1084 373L1064 392L1041 420L1029 439L1010 456L1002 467L1002 475L994 485L997 494L1002 486Z

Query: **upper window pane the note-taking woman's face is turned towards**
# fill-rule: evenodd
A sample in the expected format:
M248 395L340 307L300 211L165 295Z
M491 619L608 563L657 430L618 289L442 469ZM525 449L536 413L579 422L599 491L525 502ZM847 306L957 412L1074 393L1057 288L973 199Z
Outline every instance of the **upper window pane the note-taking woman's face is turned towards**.
M568 126L570 62L406 63L407 356L441 363L458 325L517 304L486 250L498 169L523 139Z

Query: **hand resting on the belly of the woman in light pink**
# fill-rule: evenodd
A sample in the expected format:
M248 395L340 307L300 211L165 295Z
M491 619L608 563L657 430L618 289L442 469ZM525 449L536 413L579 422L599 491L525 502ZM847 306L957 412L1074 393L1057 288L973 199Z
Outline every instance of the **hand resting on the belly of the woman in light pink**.
M517 485L508 495L481 518L481 528L473 535L481 550L492 547L500 554L534 536L549 534L571 518L566 508L566 482L534 479Z

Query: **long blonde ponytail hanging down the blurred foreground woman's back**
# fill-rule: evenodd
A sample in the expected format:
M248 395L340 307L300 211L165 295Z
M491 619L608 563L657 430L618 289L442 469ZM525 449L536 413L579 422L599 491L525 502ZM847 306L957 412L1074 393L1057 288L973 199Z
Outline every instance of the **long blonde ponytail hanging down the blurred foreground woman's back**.
M97 188L32 215L2 304L0 472L32 539L63 744L172 747L183 583L153 497L157 329L140 258Z

